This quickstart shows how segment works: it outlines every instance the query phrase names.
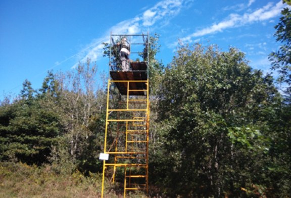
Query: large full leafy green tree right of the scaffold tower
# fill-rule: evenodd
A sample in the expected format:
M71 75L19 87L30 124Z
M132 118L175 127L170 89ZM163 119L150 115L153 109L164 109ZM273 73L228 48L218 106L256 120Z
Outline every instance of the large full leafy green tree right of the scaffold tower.
M264 191L270 142L262 112L278 97L272 79L235 48L182 45L159 90L167 190L197 197Z

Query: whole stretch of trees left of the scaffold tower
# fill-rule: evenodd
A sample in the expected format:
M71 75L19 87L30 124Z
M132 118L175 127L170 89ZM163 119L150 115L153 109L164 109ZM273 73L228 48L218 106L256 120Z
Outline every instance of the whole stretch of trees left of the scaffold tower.
M60 173L100 171L107 93L96 72L88 59L75 71L48 72L40 89L25 80L18 98L1 103L1 161L51 163Z

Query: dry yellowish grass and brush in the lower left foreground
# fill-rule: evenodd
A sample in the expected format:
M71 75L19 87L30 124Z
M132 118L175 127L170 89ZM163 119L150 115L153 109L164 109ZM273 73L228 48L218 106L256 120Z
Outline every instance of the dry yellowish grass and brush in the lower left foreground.
M85 177L79 171L71 175L56 174L49 165L28 166L23 163L0 163L0 197L101 197L100 174ZM106 183L106 198L123 197L123 194ZM141 192L127 197L147 197Z

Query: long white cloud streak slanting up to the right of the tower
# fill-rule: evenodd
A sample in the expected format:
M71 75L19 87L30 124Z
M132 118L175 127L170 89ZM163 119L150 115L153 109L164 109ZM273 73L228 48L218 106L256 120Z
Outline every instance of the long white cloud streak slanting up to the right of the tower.
M252 4L253 2L254 1L250 1L249 4L250 3ZM207 34L222 32L227 28L239 27L254 22L262 22L265 20L269 20L273 17L278 16L284 7L286 6L283 5L280 1L275 6L273 6L272 3L269 3L263 8L260 8L252 13L245 13L244 15L230 14L223 21L213 24L212 26L203 28L201 30L198 30L188 36L181 38L181 40L191 41L193 37L199 37Z

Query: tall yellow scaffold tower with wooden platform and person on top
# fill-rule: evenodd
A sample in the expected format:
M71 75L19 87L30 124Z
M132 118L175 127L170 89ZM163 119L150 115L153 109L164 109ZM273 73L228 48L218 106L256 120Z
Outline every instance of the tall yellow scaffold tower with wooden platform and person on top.
M124 197L129 190L148 193L149 33L111 34L108 49L111 78L107 88L104 153L100 154L102 197L105 179L118 182L124 188ZM123 52L130 53L130 59Z

